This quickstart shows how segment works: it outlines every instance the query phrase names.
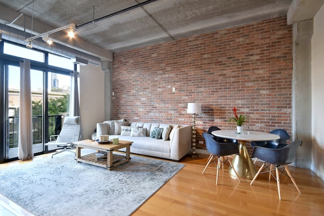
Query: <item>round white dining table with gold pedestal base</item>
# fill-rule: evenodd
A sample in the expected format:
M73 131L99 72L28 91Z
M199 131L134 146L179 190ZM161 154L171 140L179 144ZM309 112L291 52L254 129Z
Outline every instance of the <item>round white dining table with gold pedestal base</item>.
M246 147L247 141L269 141L277 140L280 137L275 134L263 133L263 132L254 132L254 131L244 131L241 134L238 134L235 130L218 130L213 131L212 135L221 138L234 139L239 143L239 155L235 155L232 160L232 165L237 172L239 178L252 180L257 174L257 170L254 166L254 163L251 159L251 156ZM235 177L234 170L229 167L229 174Z

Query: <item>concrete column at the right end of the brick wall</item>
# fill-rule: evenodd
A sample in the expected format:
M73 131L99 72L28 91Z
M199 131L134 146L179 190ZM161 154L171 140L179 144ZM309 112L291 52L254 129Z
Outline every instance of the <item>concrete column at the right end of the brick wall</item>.
M295 165L311 167L311 37L313 20L293 25L293 140L303 140L297 149Z

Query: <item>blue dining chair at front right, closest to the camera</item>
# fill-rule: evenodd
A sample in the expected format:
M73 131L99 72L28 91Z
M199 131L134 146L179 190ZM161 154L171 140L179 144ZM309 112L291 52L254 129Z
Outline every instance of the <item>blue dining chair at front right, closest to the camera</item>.
M264 163L258 170L257 174L253 178L250 185L252 185L253 182L258 178L259 174L269 172L269 174L273 176L273 178L277 181L279 200L281 200L280 177L282 176L282 174L285 174L292 180L298 192L301 193L287 165L294 162L296 158L296 150L299 146L302 145L302 143L303 143L302 140L297 140L280 149L271 149L271 148L264 148L259 146L254 147L251 157L257 157L260 160L263 160ZM271 165L275 166L275 169L272 169ZM272 171L274 170L276 172L276 176L272 174ZM280 176L279 176L279 171L281 172Z

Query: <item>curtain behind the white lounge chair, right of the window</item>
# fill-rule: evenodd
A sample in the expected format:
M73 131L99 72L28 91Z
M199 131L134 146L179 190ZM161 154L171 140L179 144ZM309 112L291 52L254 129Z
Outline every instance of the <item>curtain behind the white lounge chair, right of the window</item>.
M70 73L70 76L71 76L70 116L79 116L80 140L83 140L82 123L81 123L81 115L80 115L79 91L78 91L79 74L77 71L73 71L73 73Z

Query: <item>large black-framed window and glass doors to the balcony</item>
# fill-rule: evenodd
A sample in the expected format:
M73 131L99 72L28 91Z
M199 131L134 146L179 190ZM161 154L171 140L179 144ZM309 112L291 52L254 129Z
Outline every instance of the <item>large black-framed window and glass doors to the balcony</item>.
M74 64L70 59L46 52L26 49L9 42L0 42L3 53L0 53L2 76L5 83L1 107L1 115L5 119L4 130L1 131L4 142L0 145L0 161L18 159L19 133L19 93L20 68L19 61L31 60L31 97L32 97L32 137L33 153L42 154L51 150L44 144L51 135L58 135L65 116L69 115L70 72ZM46 64L48 62L48 64Z

